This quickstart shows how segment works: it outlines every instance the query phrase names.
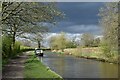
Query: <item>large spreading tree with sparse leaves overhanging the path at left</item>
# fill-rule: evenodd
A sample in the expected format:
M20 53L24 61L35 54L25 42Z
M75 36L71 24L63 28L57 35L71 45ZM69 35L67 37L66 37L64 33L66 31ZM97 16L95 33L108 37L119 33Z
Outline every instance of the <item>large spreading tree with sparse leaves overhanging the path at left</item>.
M42 31L39 23L54 24L62 13L53 3L36 2L3 2L2 3L2 30L15 43L15 37L23 33L36 34Z

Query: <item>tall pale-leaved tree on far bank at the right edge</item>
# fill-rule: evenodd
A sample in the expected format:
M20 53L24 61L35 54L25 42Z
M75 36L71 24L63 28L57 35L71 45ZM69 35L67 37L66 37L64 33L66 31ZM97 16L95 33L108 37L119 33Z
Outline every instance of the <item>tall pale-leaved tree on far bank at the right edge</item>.
M104 7L100 9L100 25L103 28L103 43L105 43L105 45L102 46L106 46L107 49L110 50L108 51L109 54L112 54L112 51L118 49L118 29L120 27L118 15L117 2L106 3Z

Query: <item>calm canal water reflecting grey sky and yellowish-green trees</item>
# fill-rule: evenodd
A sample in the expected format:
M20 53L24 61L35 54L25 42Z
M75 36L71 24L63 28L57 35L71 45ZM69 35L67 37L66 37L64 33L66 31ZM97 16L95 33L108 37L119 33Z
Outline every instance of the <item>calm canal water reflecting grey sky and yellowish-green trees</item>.
M63 78L118 78L118 65L45 53L42 62Z

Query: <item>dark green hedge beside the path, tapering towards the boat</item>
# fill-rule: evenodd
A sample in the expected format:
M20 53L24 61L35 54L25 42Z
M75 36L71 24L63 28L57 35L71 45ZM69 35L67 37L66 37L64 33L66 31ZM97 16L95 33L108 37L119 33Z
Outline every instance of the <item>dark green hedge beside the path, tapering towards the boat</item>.
M13 45L12 38L10 36L2 37L2 65L8 63L9 59L15 58L17 55L20 55L22 52L33 50L31 48L21 48L21 43L16 41Z

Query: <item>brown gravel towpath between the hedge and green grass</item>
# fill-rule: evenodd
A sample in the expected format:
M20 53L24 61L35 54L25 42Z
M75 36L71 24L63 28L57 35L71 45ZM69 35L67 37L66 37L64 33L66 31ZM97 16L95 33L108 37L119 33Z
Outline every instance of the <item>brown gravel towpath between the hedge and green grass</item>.
M27 55L23 53L23 55L10 60L10 63L5 65L5 69L2 71L2 78L3 80L8 79L23 79L23 71L24 71L24 64L27 59Z

